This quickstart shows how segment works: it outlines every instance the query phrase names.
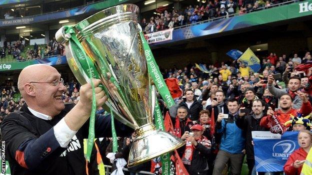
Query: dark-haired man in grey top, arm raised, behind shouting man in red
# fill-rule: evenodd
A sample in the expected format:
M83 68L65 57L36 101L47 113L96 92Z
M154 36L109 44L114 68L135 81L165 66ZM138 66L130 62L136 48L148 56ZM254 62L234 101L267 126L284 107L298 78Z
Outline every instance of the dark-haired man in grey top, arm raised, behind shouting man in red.
M274 87L273 81L274 81L274 78L273 78L273 75L271 74L268 76L268 80L267 80L267 88L268 88L269 92L276 98L280 98L281 95L288 93L290 98L293 99L293 101L292 101L293 108L299 109L302 105L302 99L296 95L296 91L300 87L300 83L301 83L300 78L297 76L290 77L289 82L287 84L288 88L286 88L286 89L278 89L278 88Z

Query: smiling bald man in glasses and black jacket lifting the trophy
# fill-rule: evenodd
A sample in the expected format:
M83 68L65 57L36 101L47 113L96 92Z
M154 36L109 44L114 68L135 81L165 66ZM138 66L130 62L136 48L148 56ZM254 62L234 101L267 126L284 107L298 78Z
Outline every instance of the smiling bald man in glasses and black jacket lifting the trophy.
M92 82L98 108L107 97L98 87L100 80ZM80 87L75 106L64 104L61 75L51 66L36 64L20 72L18 89L25 104L1 123L11 175L85 175L83 139L88 136L91 85ZM95 138L111 137L110 117L96 116L95 120ZM131 133L116 125L117 133Z

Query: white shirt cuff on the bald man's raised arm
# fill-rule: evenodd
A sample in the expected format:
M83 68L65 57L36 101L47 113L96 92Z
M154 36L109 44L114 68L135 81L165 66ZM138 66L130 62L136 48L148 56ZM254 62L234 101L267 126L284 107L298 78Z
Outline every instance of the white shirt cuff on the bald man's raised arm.
M54 136L60 147L66 148L69 144L71 138L77 133L69 129L65 123L64 118L62 118L54 127Z

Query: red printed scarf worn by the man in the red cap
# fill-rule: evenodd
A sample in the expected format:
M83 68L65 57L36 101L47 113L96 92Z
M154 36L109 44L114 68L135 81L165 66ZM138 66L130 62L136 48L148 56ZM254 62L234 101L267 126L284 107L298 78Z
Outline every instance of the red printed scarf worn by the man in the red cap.
M211 142L204 136L201 136L201 138L197 140L197 143L202 144L205 147L211 147ZM191 142L186 142L185 151L182 156L183 164L190 165L194 148L195 147L191 144Z

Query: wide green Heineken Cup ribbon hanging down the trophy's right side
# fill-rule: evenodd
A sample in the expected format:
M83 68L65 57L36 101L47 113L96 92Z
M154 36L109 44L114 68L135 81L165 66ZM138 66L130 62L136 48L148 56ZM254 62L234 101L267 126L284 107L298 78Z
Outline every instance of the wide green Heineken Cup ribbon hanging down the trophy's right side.
M154 56L151 53L148 43L146 42L144 35L140 32L140 37L142 40L144 53L147 62L148 74L152 77L154 84L163 98L164 102L166 103L167 107L170 108L174 105L174 100L170 95L168 87L166 86L162 74L159 71L159 67L155 61ZM161 111L158 105L158 101L156 99L155 109L154 109L154 120L155 126L157 129L164 131L163 119L161 115ZM160 156L161 161L161 168L162 168L162 175L170 175L170 154L166 153Z

